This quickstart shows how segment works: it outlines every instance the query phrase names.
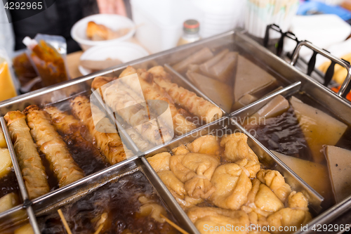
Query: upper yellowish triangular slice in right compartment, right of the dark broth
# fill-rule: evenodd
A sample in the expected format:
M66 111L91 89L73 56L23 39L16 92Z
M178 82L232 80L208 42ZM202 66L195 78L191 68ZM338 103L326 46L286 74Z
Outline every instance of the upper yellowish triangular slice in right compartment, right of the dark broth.
M321 152L323 145L336 145L346 131L347 125L322 110L312 108L298 98L291 97L290 103L312 151L314 162L325 162Z

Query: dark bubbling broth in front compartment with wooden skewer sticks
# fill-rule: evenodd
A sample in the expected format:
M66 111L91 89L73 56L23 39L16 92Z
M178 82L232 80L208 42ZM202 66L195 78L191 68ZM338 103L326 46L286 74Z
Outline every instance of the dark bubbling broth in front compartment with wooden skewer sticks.
M164 206L154 192L147 178L137 171L108 183L95 192L86 195L73 204L61 207L72 233L93 233L95 227L91 220L107 212L108 218L102 233L177 233L168 223L159 223L151 216L141 216L140 195L146 195ZM168 212L168 219L174 221ZM57 212L39 217L41 233L65 233Z

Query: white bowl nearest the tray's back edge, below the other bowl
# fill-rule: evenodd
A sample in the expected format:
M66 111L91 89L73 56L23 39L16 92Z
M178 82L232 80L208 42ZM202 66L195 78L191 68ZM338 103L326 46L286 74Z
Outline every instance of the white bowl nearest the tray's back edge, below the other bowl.
M103 44L88 48L88 50L81 55L80 60L106 60L107 58L111 58L119 59L122 63L127 63L148 55L149 53L137 44L126 41L116 41L113 44ZM84 76L92 72L81 65L79 65L78 69Z

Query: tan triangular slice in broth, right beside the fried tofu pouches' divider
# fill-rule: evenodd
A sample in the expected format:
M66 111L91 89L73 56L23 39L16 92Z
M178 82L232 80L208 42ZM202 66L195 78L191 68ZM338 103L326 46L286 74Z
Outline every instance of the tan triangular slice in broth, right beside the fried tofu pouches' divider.
M308 183L309 186L316 190L317 193L323 197L326 197L330 193L331 183L326 166L307 160L300 160L297 157L286 156L279 152L272 152L279 157L279 160L282 160L291 170Z

